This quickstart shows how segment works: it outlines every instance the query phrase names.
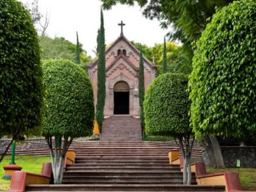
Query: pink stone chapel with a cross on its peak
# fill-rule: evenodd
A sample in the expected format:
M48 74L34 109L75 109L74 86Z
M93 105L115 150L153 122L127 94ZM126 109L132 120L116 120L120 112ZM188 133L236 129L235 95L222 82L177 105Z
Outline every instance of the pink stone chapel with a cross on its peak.
M120 36L105 52L106 56L106 99L104 116L140 116L139 103L139 60L140 51L124 36L123 21ZM143 56L145 91L156 77L156 64ZM97 104L98 60L88 65L88 75L92 82L94 104Z

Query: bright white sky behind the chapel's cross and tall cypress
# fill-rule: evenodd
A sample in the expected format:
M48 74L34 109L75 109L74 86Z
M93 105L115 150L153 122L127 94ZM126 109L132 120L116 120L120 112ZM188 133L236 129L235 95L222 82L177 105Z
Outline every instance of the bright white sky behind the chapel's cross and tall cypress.
M31 3L33 0L20 0ZM97 30L100 27L100 0L38 0L39 11L50 14L50 25L46 34L52 38L62 36L76 43L76 31L83 49L92 57L96 47ZM164 35L169 30L163 30L159 21L146 19L138 5L116 5L111 10L103 11L106 44L116 40L120 35L121 20L124 26L124 36L130 41L153 46L163 43Z

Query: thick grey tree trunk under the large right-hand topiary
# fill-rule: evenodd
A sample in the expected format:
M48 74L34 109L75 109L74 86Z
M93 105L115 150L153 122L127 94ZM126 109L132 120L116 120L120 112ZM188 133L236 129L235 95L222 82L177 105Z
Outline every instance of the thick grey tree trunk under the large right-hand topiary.
M216 136L205 135L203 139L204 149L210 158L210 167L224 168L224 161Z

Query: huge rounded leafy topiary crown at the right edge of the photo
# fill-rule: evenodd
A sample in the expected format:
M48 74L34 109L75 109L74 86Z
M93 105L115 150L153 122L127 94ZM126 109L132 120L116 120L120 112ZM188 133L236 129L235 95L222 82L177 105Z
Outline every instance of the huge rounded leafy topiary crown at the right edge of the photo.
M254 0L235 1L217 11L197 42L189 86L198 137L255 132L255 16ZM209 150L213 158L222 157L218 142Z

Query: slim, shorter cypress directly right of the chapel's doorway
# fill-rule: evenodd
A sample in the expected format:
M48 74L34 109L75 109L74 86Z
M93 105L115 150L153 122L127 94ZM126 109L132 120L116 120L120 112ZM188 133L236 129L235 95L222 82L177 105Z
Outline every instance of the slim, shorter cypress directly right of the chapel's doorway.
M143 55L142 55L142 48L140 44L140 68L139 68L139 99L140 99L140 124L141 127L145 127L144 122L144 111L143 111L143 102L144 102L144 63L143 63Z

